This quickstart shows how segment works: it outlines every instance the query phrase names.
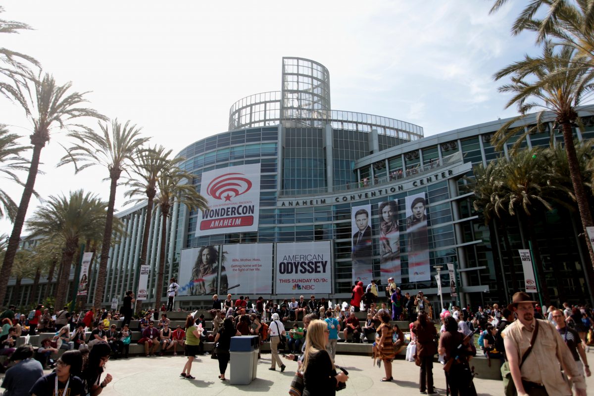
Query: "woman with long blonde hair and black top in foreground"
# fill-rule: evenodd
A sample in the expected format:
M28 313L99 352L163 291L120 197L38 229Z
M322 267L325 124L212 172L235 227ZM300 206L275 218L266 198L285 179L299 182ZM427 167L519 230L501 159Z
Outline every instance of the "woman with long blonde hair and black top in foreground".
M328 352L328 325L315 319L309 323L305 341L303 364L304 396L335 395L339 382L346 382L349 377L336 373L336 368Z

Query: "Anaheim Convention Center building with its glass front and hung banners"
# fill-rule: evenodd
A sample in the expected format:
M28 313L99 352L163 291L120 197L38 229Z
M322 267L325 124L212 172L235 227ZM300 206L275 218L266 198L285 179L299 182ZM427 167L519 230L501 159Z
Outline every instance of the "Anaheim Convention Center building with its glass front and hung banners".
M594 122L586 120L585 132L576 128L579 140L594 138ZM503 151L490 143L507 121L424 137L423 128L409 122L333 110L326 67L283 58L280 91L238 100L226 132L188 142L178 154L209 207L188 211L176 204L166 240L160 240L157 210L146 268L138 266L146 204L116 214L127 235L110 251L103 301L121 302L134 290L146 294L144 306L153 306L155 293L166 299L175 277L176 308L208 306L215 293L251 300L314 294L337 303L350 300L358 281L375 280L383 298L393 277L403 294L422 291L434 309L438 286L445 305L501 305L524 290L518 250L529 246L520 222L507 227L506 240L486 226L466 185L474 166L509 155L514 142ZM522 147L548 146L550 135L529 135ZM562 141L560 134L555 139ZM535 219L549 295L557 303L590 302L579 224L563 207ZM162 243L165 274L156 286Z

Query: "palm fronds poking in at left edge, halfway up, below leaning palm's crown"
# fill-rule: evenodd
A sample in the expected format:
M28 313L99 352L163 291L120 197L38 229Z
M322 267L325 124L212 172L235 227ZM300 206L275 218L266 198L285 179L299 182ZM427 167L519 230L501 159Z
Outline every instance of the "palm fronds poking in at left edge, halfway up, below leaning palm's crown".
M8 132L6 125L0 124L0 178L14 180L22 185L15 172L27 170L28 161L21 157L27 147L18 143L19 136ZM8 217L14 221L17 214L17 204L0 188L0 218Z

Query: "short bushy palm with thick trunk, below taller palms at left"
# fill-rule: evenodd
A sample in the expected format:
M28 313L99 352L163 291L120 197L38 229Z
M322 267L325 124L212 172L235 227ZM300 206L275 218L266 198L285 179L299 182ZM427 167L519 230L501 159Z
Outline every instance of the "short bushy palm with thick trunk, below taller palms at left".
M94 235L105 226L107 204L96 195L83 190L70 192L69 197L50 196L42 207L37 208L27 227L31 237L42 235L59 237L62 240L61 271L58 276L56 306L64 306L72 258L77 252L80 239ZM75 280L77 281L77 280Z

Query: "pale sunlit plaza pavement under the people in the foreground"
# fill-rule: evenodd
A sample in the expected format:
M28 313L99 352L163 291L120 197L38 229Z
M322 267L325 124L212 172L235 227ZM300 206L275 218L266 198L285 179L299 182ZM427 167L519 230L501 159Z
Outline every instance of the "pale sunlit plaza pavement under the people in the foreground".
M594 349L588 353L590 362L594 362ZM163 396L200 394L210 395L252 395L254 393L271 392L272 395L287 395L290 382L295 375L296 362L286 361L285 372L268 370L270 354L262 354L258 363L257 379L249 385L230 385L229 381L220 381L218 360L208 356L200 356L194 360L192 375L194 380L182 379L179 376L186 362L184 356L165 357L130 357L129 359L110 359L106 372L113 376L113 381L105 389L102 396ZM283 359L283 362L285 360ZM380 382L384 376L384 368L372 366L371 357L355 355L337 355L336 364L349 372L346 389L339 391L340 396L370 394L418 395L419 368L415 363L395 360L393 363L394 382ZM226 377L230 378L229 363ZM434 363L433 378L435 389L445 395L445 378L441 364ZM105 378L105 374L102 376ZM589 389L594 389L594 376L586 378ZM503 395L503 382L475 377L475 387L479 396Z

